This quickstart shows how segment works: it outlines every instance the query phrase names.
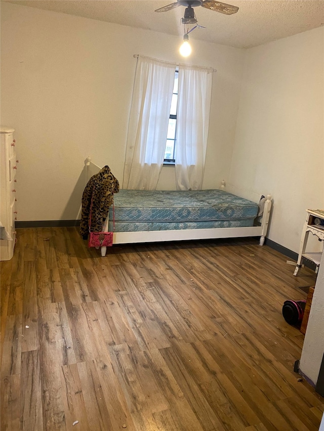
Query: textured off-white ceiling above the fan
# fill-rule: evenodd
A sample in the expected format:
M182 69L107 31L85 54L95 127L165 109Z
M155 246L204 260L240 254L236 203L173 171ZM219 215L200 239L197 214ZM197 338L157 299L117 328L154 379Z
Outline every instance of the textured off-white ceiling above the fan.
M2 0L6 1L6 0ZM190 37L249 48L324 25L324 0L226 0L238 6L224 15L200 6L194 8L198 24ZM10 0L9 3L61 12L99 21L183 35L184 7L156 13L172 0Z

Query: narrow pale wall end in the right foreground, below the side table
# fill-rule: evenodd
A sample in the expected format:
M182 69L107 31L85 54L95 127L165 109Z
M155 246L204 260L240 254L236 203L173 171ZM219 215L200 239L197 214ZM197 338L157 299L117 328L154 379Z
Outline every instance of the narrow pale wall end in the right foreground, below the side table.
M299 369L314 385L324 355L324 253L318 270ZM323 424L324 425L324 424Z

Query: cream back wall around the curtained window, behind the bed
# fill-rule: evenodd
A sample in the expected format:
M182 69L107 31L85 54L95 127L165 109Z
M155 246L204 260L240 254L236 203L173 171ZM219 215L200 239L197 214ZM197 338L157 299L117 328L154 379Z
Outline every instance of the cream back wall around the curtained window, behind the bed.
M120 182L136 60L184 63L179 37L1 2L1 123L16 129L18 220L76 219L84 160ZM188 62L217 69L204 188L228 177L244 50L190 42ZM174 189L174 168L159 189Z

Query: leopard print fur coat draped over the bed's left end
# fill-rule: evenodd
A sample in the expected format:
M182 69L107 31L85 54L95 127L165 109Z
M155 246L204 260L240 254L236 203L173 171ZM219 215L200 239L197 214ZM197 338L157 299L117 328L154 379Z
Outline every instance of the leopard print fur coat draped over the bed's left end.
M104 166L101 171L90 178L82 195L80 235L83 237L88 235L90 224L92 232L101 232L109 213L109 207L113 203L113 194L118 191L119 182L111 173L109 166Z

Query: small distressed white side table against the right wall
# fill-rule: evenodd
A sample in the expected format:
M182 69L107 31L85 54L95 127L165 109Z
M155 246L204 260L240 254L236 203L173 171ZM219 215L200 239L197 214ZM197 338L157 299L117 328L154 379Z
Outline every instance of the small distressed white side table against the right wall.
M309 232L316 235L320 241L324 240L324 210L306 210L307 219L304 223L302 237L300 240L299 254L297 260L297 266L294 275L298 274L299 268L302 266L303 258L308 259L315 263L316 273L318 271L320 258L322 253L306 253L306 245L308 240Z

